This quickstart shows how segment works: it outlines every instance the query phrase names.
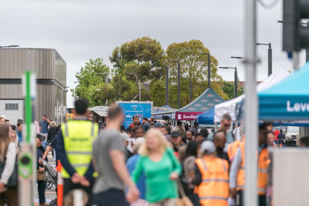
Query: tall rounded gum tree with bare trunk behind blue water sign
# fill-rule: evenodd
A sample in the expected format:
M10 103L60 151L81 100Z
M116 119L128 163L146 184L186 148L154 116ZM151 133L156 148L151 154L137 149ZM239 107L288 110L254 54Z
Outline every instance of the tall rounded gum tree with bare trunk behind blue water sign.
M109 59L119 75L135 83L137 94L131 100L136 100L139 96L139 81L144 92L148 88L145 82L162 76L160 64L164 59L164 50L159 41L142 37L116 47Z

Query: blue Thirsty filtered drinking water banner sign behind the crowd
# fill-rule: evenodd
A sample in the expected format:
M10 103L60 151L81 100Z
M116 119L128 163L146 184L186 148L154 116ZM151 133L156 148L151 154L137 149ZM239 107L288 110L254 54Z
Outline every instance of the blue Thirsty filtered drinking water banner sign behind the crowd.
M153 102L117 101L116 104L123 109L125 119L122 124L126 128L132 124L133 116L138 116L142 122L143 117L150 118L152 114Z

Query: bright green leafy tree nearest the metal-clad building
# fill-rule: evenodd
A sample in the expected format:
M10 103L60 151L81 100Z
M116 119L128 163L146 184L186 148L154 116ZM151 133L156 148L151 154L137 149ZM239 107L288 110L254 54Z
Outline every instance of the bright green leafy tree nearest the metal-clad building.
M100 88L101 77L101 83L104 84L104 75L97 73L105 72L110 72L110 68L103 63L103 59L90 59L89 62L86 62L86 65L75 74L77 81L74 83L77 83L77 86L75 89L71 89L74 99L86 98L90 107L102 105L102 102L95 96L100 94L97 89Z

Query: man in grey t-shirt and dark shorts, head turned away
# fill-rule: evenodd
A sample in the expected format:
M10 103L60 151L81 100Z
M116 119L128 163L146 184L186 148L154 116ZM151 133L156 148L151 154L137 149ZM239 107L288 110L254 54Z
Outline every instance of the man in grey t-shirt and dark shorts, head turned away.
M122 109L113 106L108 110L109 124L93 143L94 167L98 177L93 186L97 206L128 206L139 197L125 164L125 147L119 133L124 119ZM128 193L125 197L125 186ZM127 202L128 201L128 202Z

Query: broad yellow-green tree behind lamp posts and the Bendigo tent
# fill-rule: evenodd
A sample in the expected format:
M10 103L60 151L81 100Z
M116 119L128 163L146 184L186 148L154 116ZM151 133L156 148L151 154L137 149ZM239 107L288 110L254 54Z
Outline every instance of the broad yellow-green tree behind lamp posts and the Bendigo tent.
M182 43L172 43L166 50L164 65L169 67L169 105L178 107L178 66L171 61L180 61L180 101L181 107L189 103L189 81L192 79L192 100L207 89L207 55L209 50L200 40L191 40ZM222 91L220 85L223 79L217 74L218 60L211 56L211 87L223 98L228 96ZM154 105L165 105L165 75L150 84L151 101Z

